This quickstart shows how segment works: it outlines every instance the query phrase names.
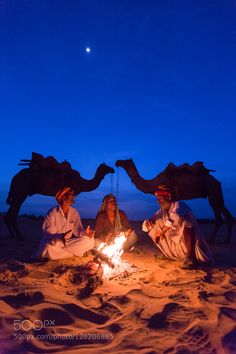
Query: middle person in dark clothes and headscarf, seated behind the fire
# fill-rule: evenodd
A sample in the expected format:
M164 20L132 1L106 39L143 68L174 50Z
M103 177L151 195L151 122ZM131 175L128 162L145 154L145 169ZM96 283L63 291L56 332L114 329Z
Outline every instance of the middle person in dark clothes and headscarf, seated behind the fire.
M116 197L113 194L107 194L103 198L102 206L96 216L95 246L98 247L102 242L111 241L120 232L127 234L123 249L128 251L137 241L137 235L126 214L119 210Z

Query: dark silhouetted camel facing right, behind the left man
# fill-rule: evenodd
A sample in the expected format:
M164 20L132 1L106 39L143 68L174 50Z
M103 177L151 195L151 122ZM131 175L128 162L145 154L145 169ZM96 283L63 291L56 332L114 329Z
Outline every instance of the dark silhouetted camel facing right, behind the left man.
M34 194L55 196L58 190L65 186L71 187L75 195L90 192L100 185L106 174L115 172L112 167L103 163L97 168L95 176L87 180L72 169L67 161L59 164L51 156L43 158L42 155L33 153L32 160L21 161L24 163L19 165L29 167L22 169L12 178L7 197L7 204L10 206L4 218L10 235L18 240L23 237L17 225L17 216L28 196Z

